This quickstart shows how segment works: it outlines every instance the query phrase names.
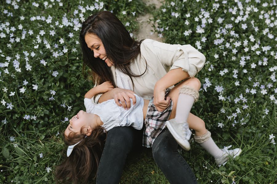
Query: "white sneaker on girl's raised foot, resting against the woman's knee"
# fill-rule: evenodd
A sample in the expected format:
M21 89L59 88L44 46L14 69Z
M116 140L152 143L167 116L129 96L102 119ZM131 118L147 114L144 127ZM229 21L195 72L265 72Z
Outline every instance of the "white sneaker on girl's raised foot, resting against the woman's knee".
M191 145L188 140L191 137L191 130L188 127L187 122L176 122L175 119L166 121L166 126L177 143L186 151L191 149Z

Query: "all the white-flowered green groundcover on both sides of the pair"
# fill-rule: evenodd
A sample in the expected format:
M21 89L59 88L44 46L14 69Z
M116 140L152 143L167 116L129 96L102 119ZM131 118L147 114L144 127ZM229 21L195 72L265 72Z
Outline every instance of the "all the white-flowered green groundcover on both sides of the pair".
M82 74L81 23L109 10L132 35L146 7L135 0L6 0L0 7L0 181L54 183L66 155L61 133L93 86ZM206 56L192 113L219 146L243 149L220 168L196 143L180 150L198 182L275 183L276 2L165 0L152 12L166 43L191 44ZM151 149L130 157L121 183L168 183Z

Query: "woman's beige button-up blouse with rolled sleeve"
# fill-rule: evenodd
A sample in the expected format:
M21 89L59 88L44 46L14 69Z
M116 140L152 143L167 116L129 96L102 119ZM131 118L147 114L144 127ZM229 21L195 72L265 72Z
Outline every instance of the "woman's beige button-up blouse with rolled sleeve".
M131 71L140 75L145 71L147 62L147 71L143 76L132 77L134 92L143 99L150 100L156 82L169 70L182 68L183 71L188 72L190 77L194 77L203 68L205 60L206 57L191 45L171 45L145 39L140 45L140 54L130 63ZM117 85L114 66L110 69ZM101 95L95 96L96 103Z

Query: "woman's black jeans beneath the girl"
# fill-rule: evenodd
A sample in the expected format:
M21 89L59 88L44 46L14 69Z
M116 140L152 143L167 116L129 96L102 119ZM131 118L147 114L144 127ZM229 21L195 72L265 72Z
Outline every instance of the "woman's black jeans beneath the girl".
M142 144L143 131L132 127L115 127L108 132L100 159L97 184L118 184L128 153L135 144ZM177 151L178 143L165 128L152 145L155 162L172 184L197 183L185 159Z

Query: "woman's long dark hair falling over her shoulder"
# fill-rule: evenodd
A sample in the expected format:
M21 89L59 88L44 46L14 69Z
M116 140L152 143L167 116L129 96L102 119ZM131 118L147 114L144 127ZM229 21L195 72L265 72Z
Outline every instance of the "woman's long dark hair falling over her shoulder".
M110 67L99 57L95 58L93 51L88 48L85 42L85 35L88 33L100 38L106 56L114 63L114 67L122 73L130 77L138 77L146 72L147 63L143 74L136 75L130 70L130 61L140 53L140 44L143 40L135 41L114 14L109 11L101 11L91 15L82 23L79 36L84 61L82 71L85 71L87 65L92 70L92 78L98 85L110 81L116 87Z

